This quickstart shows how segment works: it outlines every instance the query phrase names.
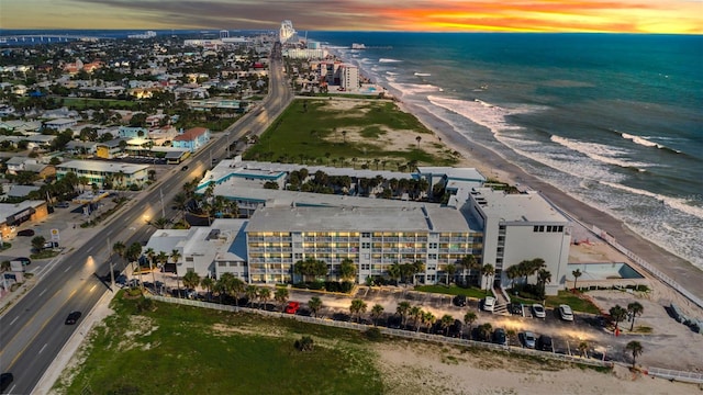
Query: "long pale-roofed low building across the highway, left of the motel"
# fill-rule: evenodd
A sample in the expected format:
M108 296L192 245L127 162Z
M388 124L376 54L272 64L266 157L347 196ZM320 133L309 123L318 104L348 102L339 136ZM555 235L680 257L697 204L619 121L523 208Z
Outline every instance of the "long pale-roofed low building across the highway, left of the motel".
M148 181L148 166L120 163L101 160L70 160L56 166L56 179L60 180L68 172L74 172L78 178L85 177L89 184L104 188L107 179L112 180L116 187L142 187Z

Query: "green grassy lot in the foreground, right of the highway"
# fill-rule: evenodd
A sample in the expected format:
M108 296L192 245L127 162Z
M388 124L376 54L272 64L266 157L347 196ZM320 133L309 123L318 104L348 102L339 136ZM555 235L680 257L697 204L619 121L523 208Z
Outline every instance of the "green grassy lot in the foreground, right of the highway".
M361 334L163 303L140 312L136 301L121 296L112 303L115 314L93 331L80 365L55 385L59 393L383 392ZM313 337L313 351L294 348L302 335Z

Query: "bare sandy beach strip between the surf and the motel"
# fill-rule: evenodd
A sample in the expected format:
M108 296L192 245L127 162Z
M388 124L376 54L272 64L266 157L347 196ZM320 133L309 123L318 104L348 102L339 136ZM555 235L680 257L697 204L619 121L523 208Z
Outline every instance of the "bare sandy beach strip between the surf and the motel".
M479 171L482 173L486 172L484 176L487 178L494 177L509 183L526 184L533 190L539 191L555 205L576 219L587 225L595 225L602 230L605 230L623 247L660 270L687 291L703 298L703 284L701 284L700 281L703 272L693 266L693 263L647 240L632 230L623 221L590 206L557 187L529 174L492 149L469 140L461 134L455 132L451 125L448 125L424 109L409 105L398 97L395 97L395 102L401 111L413 114L421 123L440 137L444 144L459 151L468 162L476 165ZM696 306L688 298L684 297L684 300L698 311L702 309L702 307Z

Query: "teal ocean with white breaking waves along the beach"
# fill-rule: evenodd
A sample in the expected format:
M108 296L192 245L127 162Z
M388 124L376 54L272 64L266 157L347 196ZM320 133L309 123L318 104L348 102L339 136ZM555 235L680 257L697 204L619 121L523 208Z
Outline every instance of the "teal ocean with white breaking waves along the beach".
M308 38L467 144L491 148L703 269L703 36L308 32Z

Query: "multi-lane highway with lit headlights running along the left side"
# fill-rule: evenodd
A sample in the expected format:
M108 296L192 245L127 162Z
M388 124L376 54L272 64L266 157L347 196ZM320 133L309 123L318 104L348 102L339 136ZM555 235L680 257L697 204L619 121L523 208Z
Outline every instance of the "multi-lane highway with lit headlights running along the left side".
M94 275L110 272L107 259L111 253L109 244L122 241L130 246L148 240L155 232L148 219L160 216L161 210L166 217L174 216L175 211L169 203L182 190L185 182L200 179L212 167L212 159L224 158L228 144L247 133L263 133L292 99L283 75L280 46L276 45L270 57L269 92L260 104L263 111L248 112L219 134L217 139L187 159L183 163L188 166L187 171L181 171L182 165L176 166L147 191L130 201L107 224L98 226L91 239L82 246L74 246L75 252L53 262L36 285L0 316L0 372L14 375L10 393L33 392L79 327L64 324L69 312L80 311L85 317L105 292L112 292Z

